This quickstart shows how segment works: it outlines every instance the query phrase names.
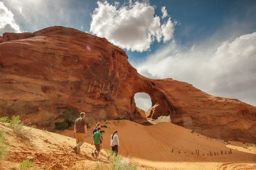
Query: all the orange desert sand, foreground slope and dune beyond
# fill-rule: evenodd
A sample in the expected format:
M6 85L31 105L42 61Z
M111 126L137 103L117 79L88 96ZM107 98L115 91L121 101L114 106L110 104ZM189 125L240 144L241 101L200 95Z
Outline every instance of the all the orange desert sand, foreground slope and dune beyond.
M110 167L105 149L111 149L110 136L118 130L118 153L132 157L142 170L256 170L256 147L252 144L212 139L170 122L143 126L129 120L106 120L101 121L103 125L107 127L102 127L105 144L99 162L91 156L92 124L79 155L72 150L76 143L72 129L59 134L32 129L32 136L26 140L10 136L11 152L0 163L0 169L18 169L28 156L44 170Z

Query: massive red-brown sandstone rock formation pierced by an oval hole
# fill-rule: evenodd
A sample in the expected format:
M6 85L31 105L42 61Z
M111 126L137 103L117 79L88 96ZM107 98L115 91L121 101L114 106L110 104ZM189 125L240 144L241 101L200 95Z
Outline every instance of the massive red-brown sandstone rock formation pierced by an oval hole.
M56 26L6 33L0 42L0 116L20 115L51 130L68 108L85 111L91 122L126 117L147 123L146 117L170 115L173 123L210 137L256 140L256 107L188 83L145 78L105 38ZM138 92L151 97L148 114L136 107Z

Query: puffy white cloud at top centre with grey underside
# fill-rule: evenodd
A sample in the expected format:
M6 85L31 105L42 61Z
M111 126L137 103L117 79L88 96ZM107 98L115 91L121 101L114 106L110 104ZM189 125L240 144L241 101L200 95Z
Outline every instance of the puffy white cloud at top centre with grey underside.
M173 38L174 23L171 18L161 20L155 15L155 8L146 1L130 1L118 7L107 1L98 1L98 8L92 14L90 31L106 37L120 48L131 51L146 51L154 41L167 42ZM162 8L163 17L168 17Z

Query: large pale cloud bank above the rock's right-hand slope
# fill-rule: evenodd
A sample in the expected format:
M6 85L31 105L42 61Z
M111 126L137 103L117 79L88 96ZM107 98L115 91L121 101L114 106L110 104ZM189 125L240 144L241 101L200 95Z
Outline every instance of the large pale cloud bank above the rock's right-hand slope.
M175 43L148 56L135 67L149 78L173 78L221 97L256 105L256 32L182 49Z

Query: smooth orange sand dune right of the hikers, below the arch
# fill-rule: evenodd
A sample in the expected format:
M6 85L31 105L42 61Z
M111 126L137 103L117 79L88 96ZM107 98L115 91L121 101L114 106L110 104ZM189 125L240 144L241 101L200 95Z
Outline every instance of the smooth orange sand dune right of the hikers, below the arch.
M108 127L102 128L105 131L103 133L105 149L110 149L111 133L118 130L120 154L132 155L141 164L157 168L178 169L198 169L200 167L208 169L211 165L211 169L216 167L222 169L221 167L232 167L233 164L240 166L245 163L248 164L247 168L251 166L256 168L255 147L249 151L242 147L226 145L223 140L191 133L191 130L169 122L143 126L128 120L111 120L102 121L101 125ZM88 130L90 135L91 131ZM88 143L89 139L86 139ZM236 142L236 144L238 143ZM240 152L236 150L237 148L247 153ZM213 154L212 156L210 156L210 152ZM232 153L229 154L229 152ZM222 166L222 163L229 164ZM193 167L194 165L195 167Z

